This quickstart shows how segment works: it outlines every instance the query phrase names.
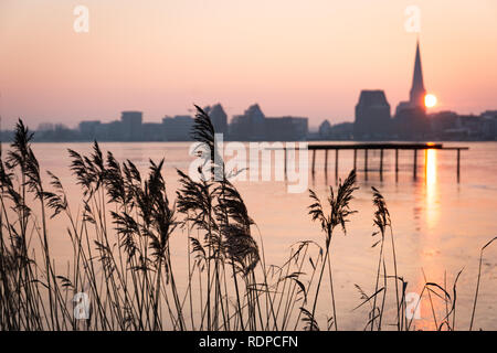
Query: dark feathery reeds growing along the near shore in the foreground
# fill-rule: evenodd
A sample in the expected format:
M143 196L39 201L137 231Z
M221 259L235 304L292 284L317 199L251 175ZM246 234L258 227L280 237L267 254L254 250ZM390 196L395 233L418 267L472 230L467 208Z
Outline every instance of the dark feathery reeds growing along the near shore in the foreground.
M298 242L284 264L269 265L263 237L230 181L236 172L226 171L216 154L214 128L200 107L192 136L202 145L198 153L203 153L208 169L199 169L204 176L200 180L178 170L178 190L166 184L163 159L150 160L148 171L141 173L131 161L104 152L97 142L87 156L68 150L70 168L81 188L81 207L74 211L61 180L51 172L46 182L42 178L31 148L33 135L19 120L9 151L3 156L0 150L1 330L339 329L332 239L337 227L347 233L356 213L351 205L358 189L356 171L337 190L329 189L326 203L309 191L309 215L319 223L324 243ZM210 175L202 174L205 170ZM378 238L373 247L379 248L379 258L374 292L367 295L357 286L358 308L370 308L364 330L384 328L387 306L395 308L391 327L412 330L412 319L405 315L408 282L398 274L390 213L380 191L372 192ZM53 217L66 225L71 260L65 268L51 255L49 220ZM173 256L172 237L184 238L186 264ZM180 280L179 267L187 272ZM422 296L430 296L432 309L431 295L446 304L444 318L437 320L434 313L437 330L455 329L459 275L452 295L446 284L423 287ZM326 281L329 297L321 293ZM470 329L479 286L480 271ZM394 296L391 302L388 291ZM330 315L319 322L319 307L329 304Z

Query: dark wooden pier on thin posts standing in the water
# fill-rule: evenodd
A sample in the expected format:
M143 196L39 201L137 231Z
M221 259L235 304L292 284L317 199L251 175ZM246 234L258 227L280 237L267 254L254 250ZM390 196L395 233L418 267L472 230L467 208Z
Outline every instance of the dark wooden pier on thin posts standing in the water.
M325 172L328 172L328 151L335 150L335 175L338 175L339 165L339 151L340 150L352 150L353 151L353 169L357 170L358 163L358 151L363 151L364 156L364 173L368 178L368 152L370 150L380 151L380 178L383 176L383 151L394 150L395 151L395 175L399 174L399 151L412 151L413 153L413 176L416 178L417 174L417 151L420 150L452 150L456 151L457 158L457 182L461 180L461 151L468 150L468 147L444 147L442 143L351 143L351 145L309 145L309 150L313 151L313 162L311 162L311 173L313 176L316 173L316 152L325 151Z

